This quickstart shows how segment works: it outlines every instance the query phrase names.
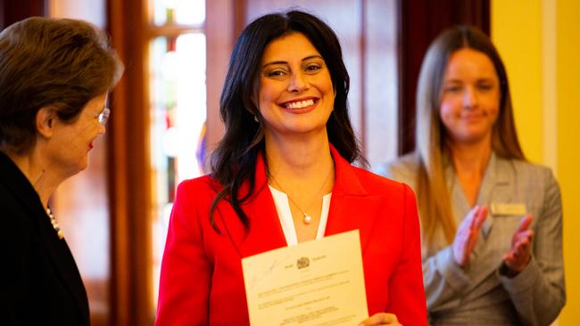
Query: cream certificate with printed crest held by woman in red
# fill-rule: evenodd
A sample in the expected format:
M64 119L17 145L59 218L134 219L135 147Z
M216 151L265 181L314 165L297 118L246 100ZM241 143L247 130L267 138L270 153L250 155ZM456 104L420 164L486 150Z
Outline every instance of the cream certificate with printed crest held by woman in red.
M356 325L369 317L359 230L242 259L252 325Z

